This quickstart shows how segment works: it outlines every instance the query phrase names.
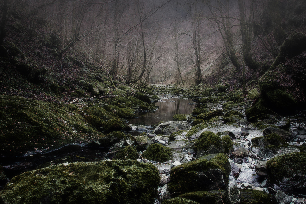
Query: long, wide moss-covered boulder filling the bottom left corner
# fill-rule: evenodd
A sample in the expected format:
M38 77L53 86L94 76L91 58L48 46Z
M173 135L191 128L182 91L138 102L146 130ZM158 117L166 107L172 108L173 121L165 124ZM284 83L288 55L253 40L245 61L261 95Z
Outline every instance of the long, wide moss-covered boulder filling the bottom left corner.
M158 170L150 163L77 162L18 175L0 196L9 204L153 203L159 180Z

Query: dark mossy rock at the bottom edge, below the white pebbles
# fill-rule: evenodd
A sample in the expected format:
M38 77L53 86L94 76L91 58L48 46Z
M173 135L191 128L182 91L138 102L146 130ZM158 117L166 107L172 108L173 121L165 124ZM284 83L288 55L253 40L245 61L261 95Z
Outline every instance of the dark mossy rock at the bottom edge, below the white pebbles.
M258 190L244 190L240 189L240 201L241 204L272 204L273 196L271 194L265 193Z

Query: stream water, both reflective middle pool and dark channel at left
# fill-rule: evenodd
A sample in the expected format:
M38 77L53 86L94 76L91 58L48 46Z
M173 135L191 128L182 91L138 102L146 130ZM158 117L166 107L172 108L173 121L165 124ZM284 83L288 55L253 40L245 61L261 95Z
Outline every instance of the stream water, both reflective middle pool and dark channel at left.
M190 114L196 108L196 104L191 99L163 98L156 102L159 109L155 112L137 113L137 118L128 119L127 124L146 124L150 126L160 121L172 121L175 114ZM152 128L148 128L150 131ZM125 132L125 134L139 135L141 132ZM89 148L85 144L68 144L59 149L28 154L22 157L2 157L1 164L5 169L7 178L11 179L18 174L33 170L39 165L51 162L68 156L78 156L88 158L90 161L97 161L105 158L107 149ZM106 157L107 158L107 157Z

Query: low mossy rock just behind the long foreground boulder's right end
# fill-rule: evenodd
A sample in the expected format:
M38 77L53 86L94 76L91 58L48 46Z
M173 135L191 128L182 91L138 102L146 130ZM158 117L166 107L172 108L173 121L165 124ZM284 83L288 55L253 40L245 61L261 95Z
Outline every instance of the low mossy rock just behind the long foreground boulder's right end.
M142 157L157 162L165 162L171 159L172 151L174 150L161 144L151 144L142 154Z

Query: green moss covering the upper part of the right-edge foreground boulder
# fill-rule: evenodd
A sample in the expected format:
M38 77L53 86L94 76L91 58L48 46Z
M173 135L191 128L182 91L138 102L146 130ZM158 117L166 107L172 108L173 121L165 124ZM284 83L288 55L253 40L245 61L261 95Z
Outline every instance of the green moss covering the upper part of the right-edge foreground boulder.
M285 178L306 176L306 153L293 152L274 157L267 161L268 181L279 184Z

